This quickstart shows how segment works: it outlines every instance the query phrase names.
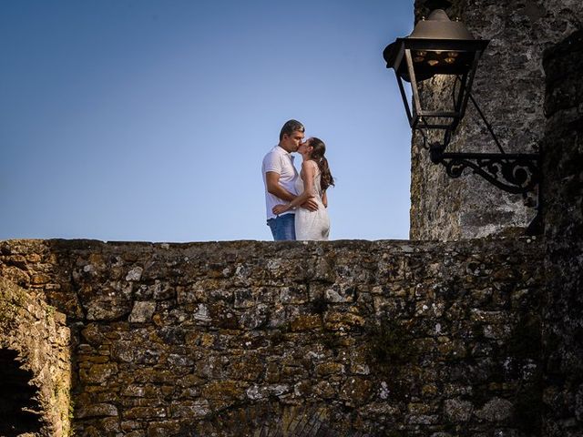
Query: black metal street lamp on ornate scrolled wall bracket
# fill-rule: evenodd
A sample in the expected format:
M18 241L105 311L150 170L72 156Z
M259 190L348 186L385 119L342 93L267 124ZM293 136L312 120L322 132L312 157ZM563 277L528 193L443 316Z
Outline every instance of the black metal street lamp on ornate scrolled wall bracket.
M536 193L537 218L530 224L527 233L537 234L542 231L538 187L541 179L540 156L538 153L506 153L470 93L478 61L488 43L488 40L472 36L462 22L451 21L443 9L435 9L427 19L414 26L410 36L397 38L386 46L383 57L387 68L394 69L409 125L422 134L424 147L429 149L432 162L444 165L447 175L452 178L459 178L465 168L471 168L477 175L509 193L521 194L524 198L528 198L528 193ZM450 92L445 95L451 98L440 99L438 109L424 107L419 92L419 83L432 77L441 77L444 85L449 84ZM404 82L411 86L411 105ZM446 151L455 129L464 118L468 101L476 107L499 152ZM440 139L430 140L429 133Z

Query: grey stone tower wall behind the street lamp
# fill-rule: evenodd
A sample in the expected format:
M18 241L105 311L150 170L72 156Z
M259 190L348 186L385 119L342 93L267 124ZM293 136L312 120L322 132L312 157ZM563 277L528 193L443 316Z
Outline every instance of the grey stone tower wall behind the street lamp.
M428 15L415 1L416 18ZM459 16L474 36L490 39L480 61L473 95L507 152L533 152L545 134L543 51L562 41L583 20L580 0L454 0L446 12ZM437 80L422 83L428 105L443 100ZM496 152L496 145L468 104L451 150ZM467 170L466 170L467 171ZM535 216L519 195L476 175L452 179L432 164L422 137L412 141L411 239L473 239L517 235Z

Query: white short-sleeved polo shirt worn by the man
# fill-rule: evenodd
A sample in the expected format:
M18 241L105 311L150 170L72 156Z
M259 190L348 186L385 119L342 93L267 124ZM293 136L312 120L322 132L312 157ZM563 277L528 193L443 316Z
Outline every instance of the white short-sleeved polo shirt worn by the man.
M295 179L298 178L298 170L293 166L292 154L285 151L283 147L273 147L263 158L261 173L263 174L263 185L265 186L265 208L267 209L267 219L275 219L277 216L271 212L275 205L288 203L286 200L277 198L267 190L267 172L273 171L280 175L280 185L292 194L297 195L295 189ZM293 210L283 214L293 214ZM281 214L281 215L283 215Z

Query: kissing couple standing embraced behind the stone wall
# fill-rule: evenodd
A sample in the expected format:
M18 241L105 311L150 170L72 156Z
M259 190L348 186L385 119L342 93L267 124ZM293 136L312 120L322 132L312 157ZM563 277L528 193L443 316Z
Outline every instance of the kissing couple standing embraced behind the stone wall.
M316 137L304 141L305 128L286 121L280 142L263 158L267 225L275 241L326 240L330 235L326 190L334 179L324 156L326 146ZM302 170L293 165L292 153L302 155Z

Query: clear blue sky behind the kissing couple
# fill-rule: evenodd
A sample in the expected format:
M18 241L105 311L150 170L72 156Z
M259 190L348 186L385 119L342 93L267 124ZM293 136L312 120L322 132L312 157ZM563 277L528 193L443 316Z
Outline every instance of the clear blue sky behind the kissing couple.
M0 0L0 239L271 239L289 118L328 147L331 239L407 239L382 51L412 28L413 0Z

